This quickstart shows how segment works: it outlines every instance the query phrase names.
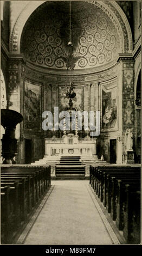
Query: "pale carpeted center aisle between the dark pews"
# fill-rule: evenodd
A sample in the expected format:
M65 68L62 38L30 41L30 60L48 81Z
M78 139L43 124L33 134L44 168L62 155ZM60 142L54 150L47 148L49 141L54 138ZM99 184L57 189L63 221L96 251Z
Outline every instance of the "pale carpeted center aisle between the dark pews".
M109 229L94 204L88 183L88 180L51 181L53 191L24 244L112 245Z

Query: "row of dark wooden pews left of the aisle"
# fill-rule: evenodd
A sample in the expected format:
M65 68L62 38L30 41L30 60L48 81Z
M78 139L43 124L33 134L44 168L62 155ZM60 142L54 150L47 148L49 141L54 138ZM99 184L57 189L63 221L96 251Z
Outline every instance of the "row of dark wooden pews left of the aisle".
M50 181L50 166L1 167L1 243L16 242Z

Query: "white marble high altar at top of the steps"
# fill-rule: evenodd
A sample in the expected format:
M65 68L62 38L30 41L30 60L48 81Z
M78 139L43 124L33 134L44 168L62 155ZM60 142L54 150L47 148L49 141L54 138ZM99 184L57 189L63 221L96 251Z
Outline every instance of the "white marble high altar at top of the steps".
M82 164L95 162L98 160L96 155L96 138L91 139L86 136L80 139L74 133L63 135L61 139L53 137L45 139L45 156L42 162L47 161L59 163L61 156L80 156Z

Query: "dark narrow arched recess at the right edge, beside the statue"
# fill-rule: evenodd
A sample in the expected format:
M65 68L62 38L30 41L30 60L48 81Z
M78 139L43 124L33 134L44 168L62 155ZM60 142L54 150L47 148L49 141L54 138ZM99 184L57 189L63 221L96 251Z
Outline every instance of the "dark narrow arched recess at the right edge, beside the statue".
M137 87L135 92L135 120L136 120L136 129L135 129L135 153L137 163L140 163L140 153L141 153L141 70L139 71L138 80L137 80Z

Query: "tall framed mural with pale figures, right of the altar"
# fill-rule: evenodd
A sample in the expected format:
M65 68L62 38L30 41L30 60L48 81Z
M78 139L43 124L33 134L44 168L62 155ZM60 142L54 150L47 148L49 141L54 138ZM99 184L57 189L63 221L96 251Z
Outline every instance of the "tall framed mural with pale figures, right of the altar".
M101 130L118 130L118 80L101 83Z

